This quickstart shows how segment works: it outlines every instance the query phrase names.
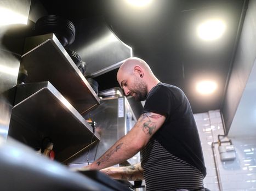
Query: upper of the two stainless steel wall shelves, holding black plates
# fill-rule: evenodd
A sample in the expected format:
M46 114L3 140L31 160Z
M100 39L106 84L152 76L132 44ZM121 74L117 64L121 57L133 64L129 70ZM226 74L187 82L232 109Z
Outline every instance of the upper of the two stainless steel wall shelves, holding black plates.
M21 64L27 70L27 82L50 81L80 113L100 100L86 78L52 34L26 38Z

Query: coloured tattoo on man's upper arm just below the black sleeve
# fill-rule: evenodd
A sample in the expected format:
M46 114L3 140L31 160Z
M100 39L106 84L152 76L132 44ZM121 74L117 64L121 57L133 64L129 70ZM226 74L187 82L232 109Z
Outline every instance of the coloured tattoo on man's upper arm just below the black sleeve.
M140 122L143 123L143 132L147 135L152 135L153 130L156 128L156 123L152 122L150 118L157 120L158 118L161 118L161 115L157 114L151 114L151 113L144 113L141 115Z

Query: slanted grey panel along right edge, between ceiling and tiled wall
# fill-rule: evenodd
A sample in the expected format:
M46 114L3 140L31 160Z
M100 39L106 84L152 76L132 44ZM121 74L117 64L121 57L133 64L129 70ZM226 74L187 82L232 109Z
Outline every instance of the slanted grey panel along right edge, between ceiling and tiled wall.
M249 2L249 4L248 4ZM232 59L228 80L226 81L226 92L223 99L223 105L220 109L223 114L224 130L229 135L230 128L234 121L234 117L243 119L243 116L237 116L237 108L240 105L240 100L243 97L244 89L246 88L249 76L251 74L255 57L256 57L256 2L244 1L243 11L240 18L241 36L237 37L237 47ZM248 7L248 9L247 9ZM244 17L245 16L245 17ZM244 20L244 21L243 21ZM240 33L240 31L238 31ZM238 34L239 34L238 33ZM248 102L249 100L247 100ZM251 105L253 107L253 105ZM254 108L252 108L254 110ZM252 117L254 114L251 112ZM253 124L255 127L255 125ZM246 126L240 127L241 133L251 131L244 129ZM238 136L240 133L237 134Z

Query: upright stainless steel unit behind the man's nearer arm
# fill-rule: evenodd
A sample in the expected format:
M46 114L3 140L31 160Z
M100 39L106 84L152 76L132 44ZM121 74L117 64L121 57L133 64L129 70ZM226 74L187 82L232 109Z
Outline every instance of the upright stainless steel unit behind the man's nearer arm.
M136 123L133 109L126 97L123 96L121 88L107 89L99 92L100 105L83 114L83 117L96 122L96 132L100 132L100 142L92 145L90 150L78 153L75 157L66 160L65 163L72 167L87 165L94 162L118 139L126 135ZM138 103L140 104L140 103ZM88 161L87 161L88 159ZM140 153L127 160L123 164L135 164L140 162ZM123 165L121 164L121 165Z

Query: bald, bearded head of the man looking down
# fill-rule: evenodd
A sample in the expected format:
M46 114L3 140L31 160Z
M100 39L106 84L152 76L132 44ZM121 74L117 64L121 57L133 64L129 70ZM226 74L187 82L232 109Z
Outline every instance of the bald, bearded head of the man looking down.
M126 96L132 96L138 101L145 100L150 89L159 82L149 65L143 59L134 57L126 59L121 65L117 81Z

